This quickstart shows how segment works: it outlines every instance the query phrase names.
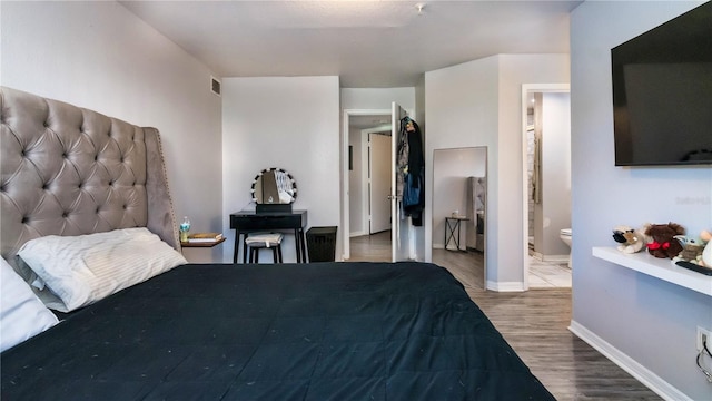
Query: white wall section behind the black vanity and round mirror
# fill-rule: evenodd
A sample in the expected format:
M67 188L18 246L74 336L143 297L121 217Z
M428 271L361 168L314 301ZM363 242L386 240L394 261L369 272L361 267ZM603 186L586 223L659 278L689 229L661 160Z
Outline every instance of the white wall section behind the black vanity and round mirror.
M233 260L235 238L229 214L254 208L249 190L264 168L293 175L298 189L293 208L307 211L307 228L340 225L338 85L338 77L222 79L227 261ZM296 261L294 236L286 235L281 248L285 262ZM336 252L340 254L340 241Z

